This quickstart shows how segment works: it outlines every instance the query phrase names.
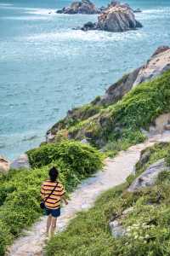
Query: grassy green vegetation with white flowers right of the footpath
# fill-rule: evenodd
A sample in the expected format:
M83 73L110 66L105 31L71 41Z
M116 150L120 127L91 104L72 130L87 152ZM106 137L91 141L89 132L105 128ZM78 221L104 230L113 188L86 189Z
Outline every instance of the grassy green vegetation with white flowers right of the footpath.
M169 148L169 144L161 143L144 150L149 151L149 157L143 166L137 164L136 176L156 160L168 157ZM170 172L161 172L150 188L127 192L134 178L128 177L127 183L101 195L88 212L80 212L65 232L48 242L47 255L170 255ZM133 207L133 212L122 218L126 234L114 238L109 221L121 216L128 207Z

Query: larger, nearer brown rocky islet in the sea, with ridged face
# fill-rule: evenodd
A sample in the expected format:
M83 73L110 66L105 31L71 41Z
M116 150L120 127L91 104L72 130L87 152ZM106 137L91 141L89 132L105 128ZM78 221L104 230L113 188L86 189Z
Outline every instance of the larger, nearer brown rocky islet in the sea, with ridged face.
M135 19L133 9L128 4L112 2L101 12L96 23L88 22L82 26L82 30L125 32L139 27L142 27L142 24Z

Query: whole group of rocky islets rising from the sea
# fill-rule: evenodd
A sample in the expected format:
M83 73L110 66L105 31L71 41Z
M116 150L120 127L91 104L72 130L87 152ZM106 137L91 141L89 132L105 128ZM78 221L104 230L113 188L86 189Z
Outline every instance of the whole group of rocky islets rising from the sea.
M98 21L93 23L89 21L82 27L82 31L105 30L108 32L125 32L127 30L142 27L138 20L135 20L134 13L141 12L140 9L133 10L126 3L121 4L117 1L111 2L107 7L97 8L89 0L73 2L71 6L57 10L57 14L68 15L94 15L99 14Z

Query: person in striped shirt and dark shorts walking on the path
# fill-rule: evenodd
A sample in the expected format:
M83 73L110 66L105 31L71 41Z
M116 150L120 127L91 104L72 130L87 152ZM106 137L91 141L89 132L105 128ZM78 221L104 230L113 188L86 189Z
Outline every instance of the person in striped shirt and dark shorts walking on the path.
M42 183L41 195L42 201L45 205L45 213L48 216L47 219L47 235L54 234L56 229L57 218L60 216L60 202L65 201L65 205L68 202L65 199L65 189L61 183L58 182L59 171L53 167L49 170L49 179Z

